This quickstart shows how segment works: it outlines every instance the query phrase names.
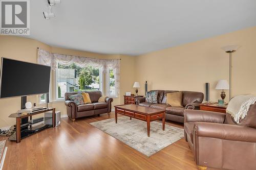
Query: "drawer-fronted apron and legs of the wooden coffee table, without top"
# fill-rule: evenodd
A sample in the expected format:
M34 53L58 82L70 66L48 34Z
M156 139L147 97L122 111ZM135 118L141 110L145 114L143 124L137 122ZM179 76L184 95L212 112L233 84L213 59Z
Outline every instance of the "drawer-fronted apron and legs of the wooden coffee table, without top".
M141 107L143 107L143 106L141 106ZM125 108L120 108L120 106L116 106L115 107L116 124L117 124L117 113L130 117L130 120L133 117L133 118L143 120L144 122L146 122L147 123L146 125L147 125L147 136L148 137L150 137L150 123L152 121L162 119L163 131L165 129L165 111L161 111L161 112L158 111L156 113L151 113L151 114L147 114L147 113L143 114L141 112L140 113L136 112L136 110L133 110L133 111L125 110Z

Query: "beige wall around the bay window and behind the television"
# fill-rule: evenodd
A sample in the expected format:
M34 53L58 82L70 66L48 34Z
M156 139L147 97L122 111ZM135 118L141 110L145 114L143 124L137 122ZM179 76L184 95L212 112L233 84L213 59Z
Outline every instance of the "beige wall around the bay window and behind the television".
M101 58L101 59L117 59L121 58L120 61L120 96L114 98L113 105L123 103L123 94L125 90L132 90L132 81L135 75L135 58L123 55L104 55L97 53L82 52L76 50L69 50L64 48L52 47L47 44L41 43L37 40L16 37L16 36L0 36L0 57L13 58L22 61L28 61L37 63L37 47L47 50L52 53L60 53L67 55L77 55L82 57ZM54 72L52 74L54 84ZM54 90L52 96L54 95ZM37 96L29 96L27 101L38 104ZM43 105L44 106L44 105ZM66 113L66 106L63 101L52 102L49 104L50 107L56 107L57 110L61 111L62 115ZM8 127L15 123L13 118L8 118L9 114L16 112L20 109L20 98L0 99L0 127Z

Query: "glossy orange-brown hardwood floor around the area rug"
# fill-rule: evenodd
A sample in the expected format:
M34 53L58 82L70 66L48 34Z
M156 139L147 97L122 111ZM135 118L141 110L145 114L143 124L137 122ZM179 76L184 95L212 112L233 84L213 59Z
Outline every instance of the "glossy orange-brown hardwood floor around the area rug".
M3 169L197 169L184 138L151 157L93 127L90 123L114 118L102 114L61 119L61 125L22 139L7 141ZM182 124L166 122L183 128ZM208 168L210 169L210 168Z

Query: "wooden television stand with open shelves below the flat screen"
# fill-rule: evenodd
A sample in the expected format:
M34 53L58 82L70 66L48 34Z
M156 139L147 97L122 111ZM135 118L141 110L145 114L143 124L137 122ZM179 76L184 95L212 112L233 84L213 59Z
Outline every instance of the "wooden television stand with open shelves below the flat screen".
M40 114L40 113L45 113L45 112L49 112L49 111L52 111L52 126L51 127L55 127L56 126L55 125L55 108L48 108L48 109L45 109L45 110L38 110L38 111L35 111L33 113L13 113L13 114L10 114L9 117L16 118L16 143L19 143L21 138L25 138L27 136L30 136L30 135L32 135L34 133L37 133L37 132L39 132L39 131L49 127L49 126L41 127L41 128L39 127L39 130L33 131L33 133L32 133L33 129L32 129L32 127L30 127L30 129L28 129L28 131L31 130L30 131L31 133L28 133L28 135L24 135L23 134L23 136L22 136L21 131L20 131L20 126L21 126L20 125L20 122L21 122L20 120L22 118L30 117L30 119L32 119L33 115ZM31 125L28 125L28 126L31 126Z

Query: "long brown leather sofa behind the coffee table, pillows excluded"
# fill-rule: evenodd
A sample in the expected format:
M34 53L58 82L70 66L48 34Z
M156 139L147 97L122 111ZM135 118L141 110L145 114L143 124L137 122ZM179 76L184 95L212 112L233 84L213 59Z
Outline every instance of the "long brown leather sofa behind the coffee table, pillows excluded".
M140 106L166 110L165 119L174 122L184 122L185 109L199 109L199 104L204 99L204 94L196 91L182 91L182 106L172 107L166 104L166 94L178 92L177 90L154 90L158 91L157 104L145 102L145 97L136 98L135 102Z

